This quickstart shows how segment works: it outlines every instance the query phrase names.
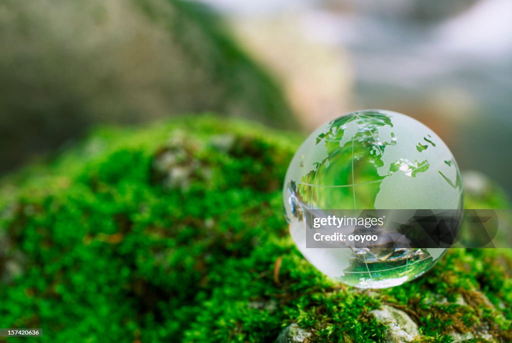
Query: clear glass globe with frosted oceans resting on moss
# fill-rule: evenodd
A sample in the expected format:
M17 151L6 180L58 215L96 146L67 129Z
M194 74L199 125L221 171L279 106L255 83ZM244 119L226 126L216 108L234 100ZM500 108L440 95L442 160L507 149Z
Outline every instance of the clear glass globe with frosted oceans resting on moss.
M460 210L462 189L452 153L431 129L401 113L362 110L322 125L304 141L288 167L283 197L290 234L311 264L352 286L385 288L422 275L445 248L311 248L307 215L325 209Z

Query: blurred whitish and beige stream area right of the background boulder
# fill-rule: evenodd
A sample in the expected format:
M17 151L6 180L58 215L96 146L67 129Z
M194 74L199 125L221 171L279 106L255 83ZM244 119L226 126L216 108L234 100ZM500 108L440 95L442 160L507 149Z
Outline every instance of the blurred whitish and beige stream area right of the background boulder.
M305 131L355 109L406 113L512 194L512 1L203 2L281 79Z

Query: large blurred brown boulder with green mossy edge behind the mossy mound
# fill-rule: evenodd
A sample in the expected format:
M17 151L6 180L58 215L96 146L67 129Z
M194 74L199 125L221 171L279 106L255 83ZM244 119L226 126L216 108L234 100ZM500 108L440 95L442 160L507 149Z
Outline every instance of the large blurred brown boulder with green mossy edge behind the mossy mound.
M0 173L93 124L215 111L293 127L278 85L205 6L0 3Z

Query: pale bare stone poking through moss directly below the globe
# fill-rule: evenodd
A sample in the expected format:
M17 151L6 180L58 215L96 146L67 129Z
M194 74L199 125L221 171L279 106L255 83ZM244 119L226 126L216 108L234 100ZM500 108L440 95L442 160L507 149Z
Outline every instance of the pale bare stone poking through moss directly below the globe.
M418 326L406 312L388 305L370 312L378 322L387 327L387 342L406 343L419 336Z

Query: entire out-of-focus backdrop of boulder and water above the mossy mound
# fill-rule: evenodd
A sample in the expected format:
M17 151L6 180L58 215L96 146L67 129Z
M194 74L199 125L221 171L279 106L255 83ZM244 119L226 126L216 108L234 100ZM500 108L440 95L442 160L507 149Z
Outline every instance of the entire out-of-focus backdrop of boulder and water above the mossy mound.
M308 133L385 108L512 194L510 13L508 0L5 0L0 172L103 123L214 111Z

